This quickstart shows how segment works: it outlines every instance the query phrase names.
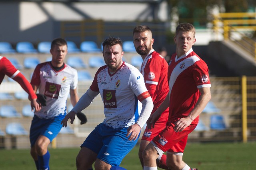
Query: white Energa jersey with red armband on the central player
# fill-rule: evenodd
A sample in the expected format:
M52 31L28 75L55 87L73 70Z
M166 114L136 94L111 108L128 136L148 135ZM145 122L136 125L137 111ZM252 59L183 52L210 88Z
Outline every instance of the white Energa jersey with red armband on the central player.
M133 125L142 109L139 100L149 96L140 71L125 62L113 74L106 65L102 66L96 72L90 89L100 92L106 117L104 123L113 128Z

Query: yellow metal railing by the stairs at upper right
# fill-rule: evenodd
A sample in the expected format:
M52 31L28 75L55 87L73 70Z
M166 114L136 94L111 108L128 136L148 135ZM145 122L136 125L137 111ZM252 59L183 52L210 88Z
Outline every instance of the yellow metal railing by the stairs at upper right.
M220 13L214 15L213 29L218 40L230 40L245 49L256 60L256 41L248 37L256 31L256 13Z

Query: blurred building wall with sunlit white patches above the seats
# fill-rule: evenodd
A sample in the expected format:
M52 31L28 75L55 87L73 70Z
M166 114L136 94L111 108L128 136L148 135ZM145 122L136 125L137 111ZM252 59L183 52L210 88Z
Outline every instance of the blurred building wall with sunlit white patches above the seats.
M51 41L59 33L59 21L102 19L105 21L153 20L148 3L106 2L1 2L0 41ZM160 4L159 19L167 20L167 3Z

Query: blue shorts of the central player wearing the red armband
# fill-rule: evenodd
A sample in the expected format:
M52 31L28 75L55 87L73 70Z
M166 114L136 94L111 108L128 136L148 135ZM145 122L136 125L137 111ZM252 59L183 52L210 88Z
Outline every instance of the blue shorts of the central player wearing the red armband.
M100 123L86 138L81 147L92 150L98 154L98 159L111 166L119 166L124 156L132 150L139 138L135 141L129 141L126 137L127 129L113 129L104 125L104 123Z

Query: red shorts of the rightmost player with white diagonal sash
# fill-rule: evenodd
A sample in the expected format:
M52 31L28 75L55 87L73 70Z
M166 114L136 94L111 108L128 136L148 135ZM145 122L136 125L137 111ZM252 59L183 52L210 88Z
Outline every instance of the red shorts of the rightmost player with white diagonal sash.
M196 125L190 125L181 132L174 131L174 123L168 123L166 128L152 140L154 144L163 152L184 152L187 144L188 134Z

